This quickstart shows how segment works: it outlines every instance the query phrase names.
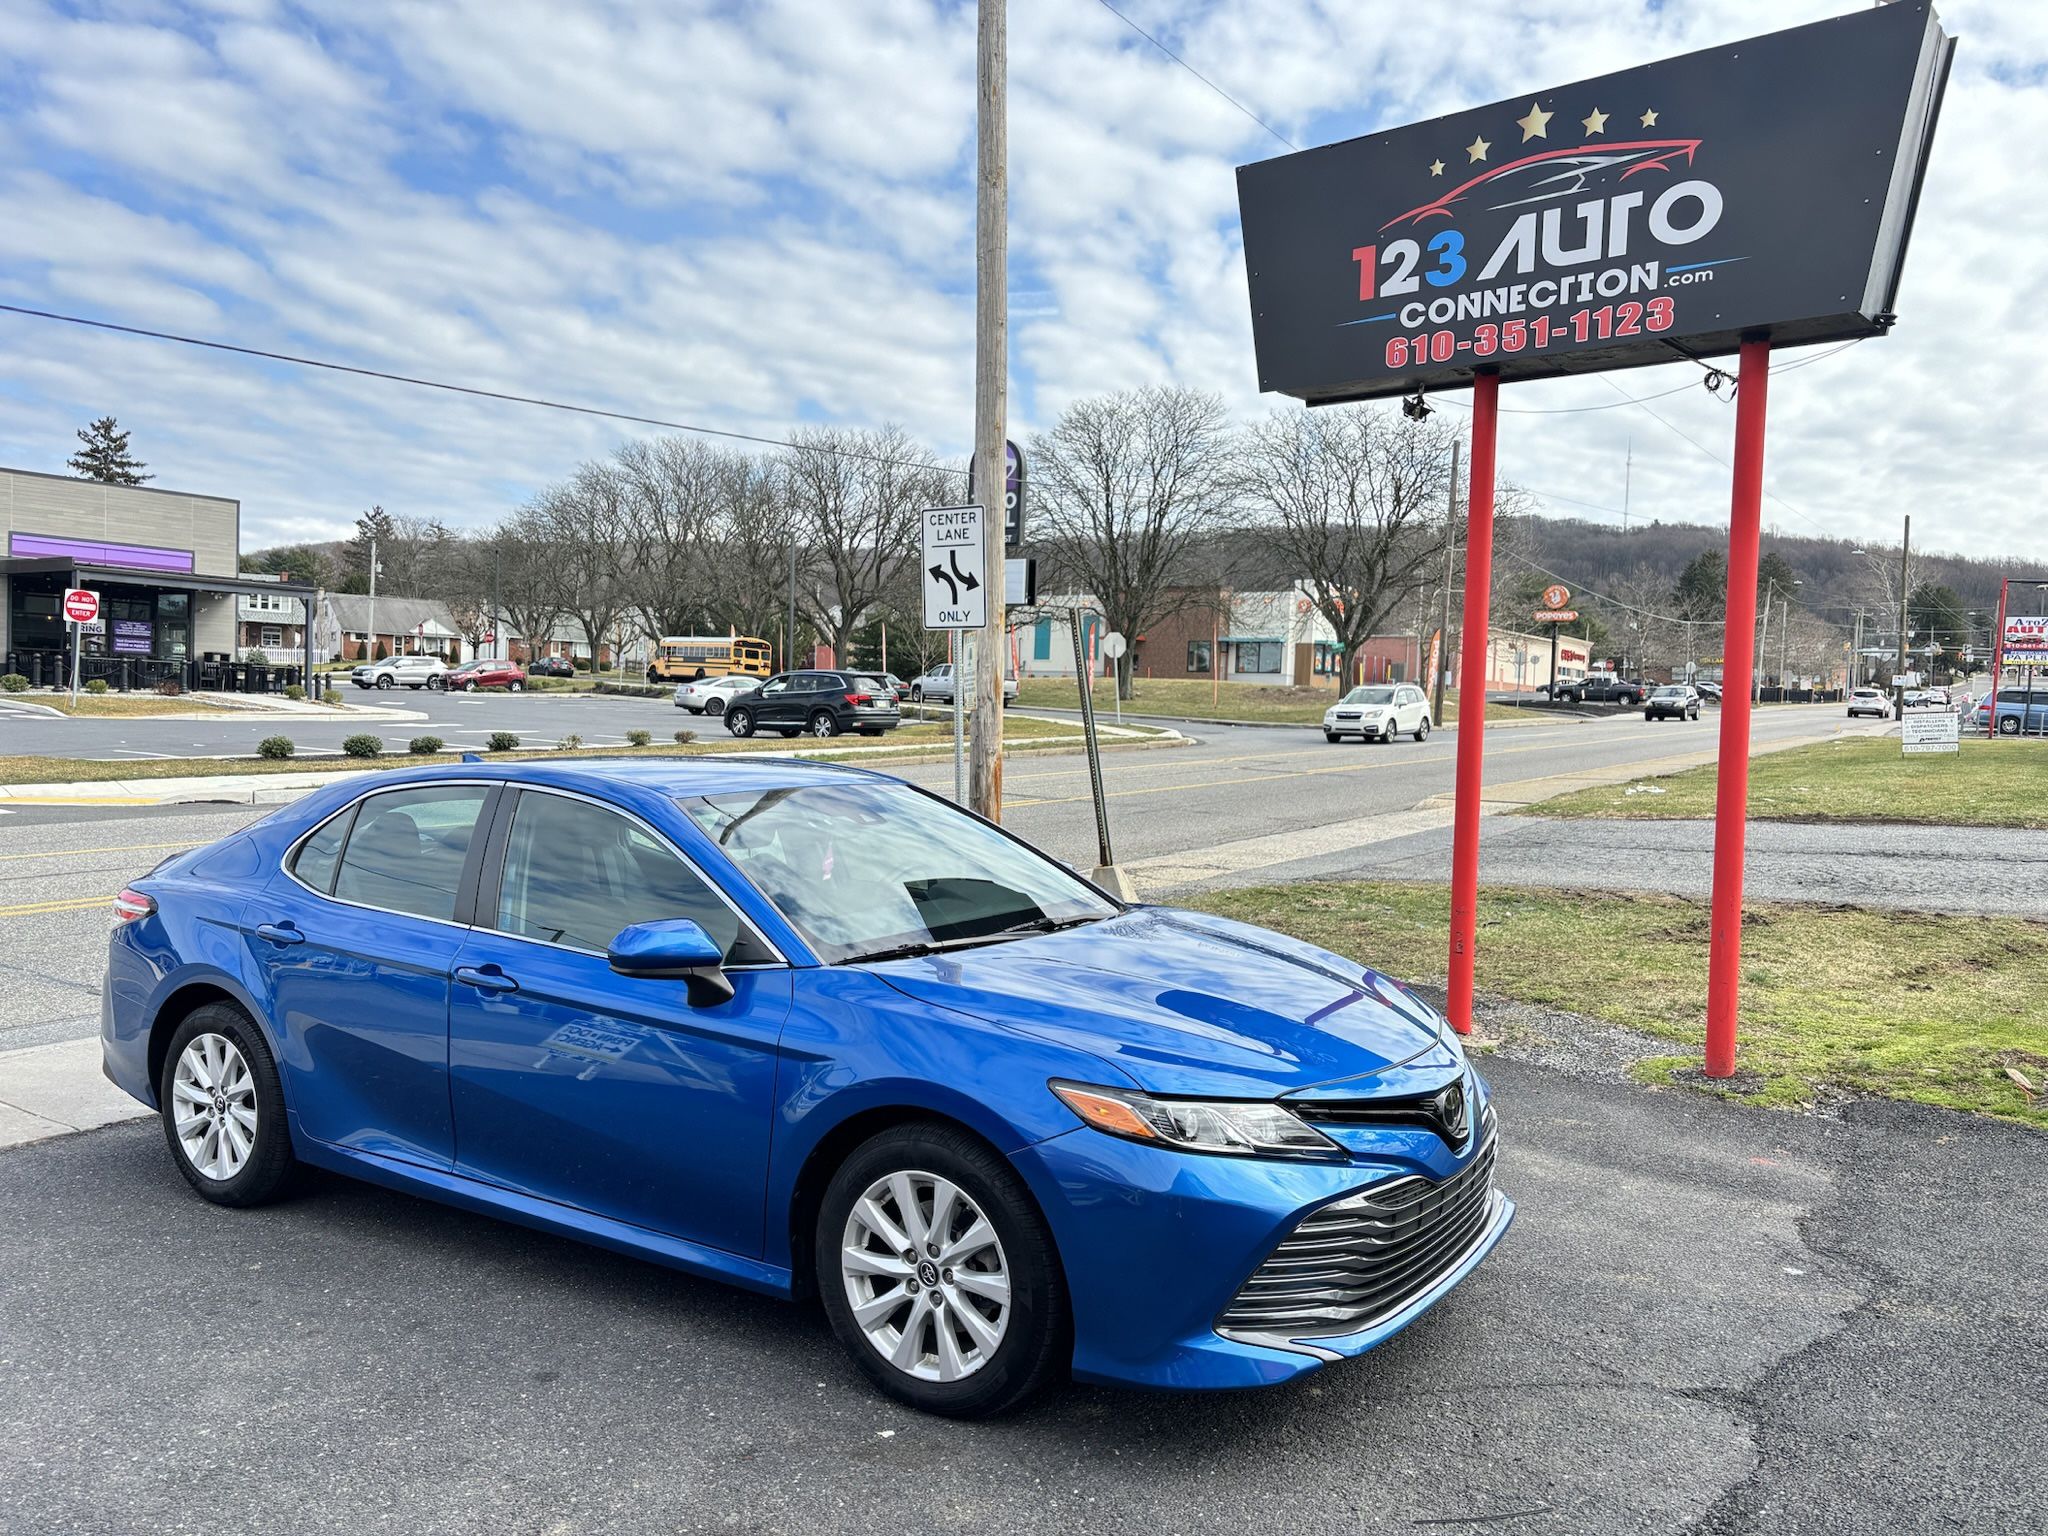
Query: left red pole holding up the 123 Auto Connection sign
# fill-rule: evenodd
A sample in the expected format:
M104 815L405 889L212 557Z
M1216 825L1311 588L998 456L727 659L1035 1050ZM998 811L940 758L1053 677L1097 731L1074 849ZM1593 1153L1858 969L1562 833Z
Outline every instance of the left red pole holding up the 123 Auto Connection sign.
M1458 664L1458 782L1450 827L1450 1026L1473 1032L1479 932L1479 770L1487 725L1487 612L1493 606L1493 442L1501 375L1473 379L1473 481L1464 498L1464 655Z

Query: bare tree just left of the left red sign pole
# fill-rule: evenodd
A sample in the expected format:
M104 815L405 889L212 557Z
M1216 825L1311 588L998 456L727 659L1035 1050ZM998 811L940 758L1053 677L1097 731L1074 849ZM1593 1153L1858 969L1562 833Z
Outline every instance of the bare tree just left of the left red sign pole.
M1286 557L1346 657L1442 565L1454 440L1386 410L1280 410L1245 432L1249 530Z

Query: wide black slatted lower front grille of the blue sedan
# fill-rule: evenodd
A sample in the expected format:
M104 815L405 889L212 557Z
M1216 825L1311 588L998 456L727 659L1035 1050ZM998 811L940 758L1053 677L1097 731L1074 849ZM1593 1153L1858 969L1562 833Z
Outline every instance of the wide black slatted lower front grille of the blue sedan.
M1358 1333L1423 1294L1493 1214L1491 1106L1479 1155L1448 1180L1389 1180L1305 1217L1217 1319L1231 1333Z

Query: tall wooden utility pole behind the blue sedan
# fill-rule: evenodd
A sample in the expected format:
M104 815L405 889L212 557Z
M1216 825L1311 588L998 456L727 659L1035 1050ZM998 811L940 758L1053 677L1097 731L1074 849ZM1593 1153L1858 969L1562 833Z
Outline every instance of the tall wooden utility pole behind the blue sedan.
M987 616L975 647L975 733L969 805L1004 817L1004 432L1010 381L1010 37L1008 0L979 0L975 27L975 485L981 487L981 590ZM958 696L954 678L954 696Z

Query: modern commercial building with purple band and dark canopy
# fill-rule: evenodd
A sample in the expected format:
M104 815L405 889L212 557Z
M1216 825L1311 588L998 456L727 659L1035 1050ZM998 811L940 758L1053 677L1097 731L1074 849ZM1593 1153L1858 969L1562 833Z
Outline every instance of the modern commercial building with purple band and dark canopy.
M66 588L100 598L100 618L80 635L80 674L115 688L281 688L297 676L311 629L313 590L299 582L246 578L236 565L242 504L147 485L0 469L0 657L33 682L70 676L72 627ZM299 645L283 666L238 664L246 596L295 610ZM281 635L283 641L283 625ZM266 647L268 649L268 647Z

